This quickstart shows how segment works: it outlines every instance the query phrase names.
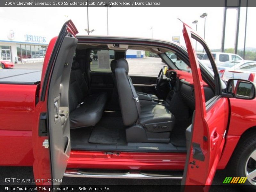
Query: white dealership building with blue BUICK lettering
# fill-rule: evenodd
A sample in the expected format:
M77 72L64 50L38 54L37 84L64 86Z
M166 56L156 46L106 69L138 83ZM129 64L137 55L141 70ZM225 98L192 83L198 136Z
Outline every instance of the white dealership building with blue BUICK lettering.
M0 33L0 60L14 62L42 61L51 38L34 34L26 28L2 28Z

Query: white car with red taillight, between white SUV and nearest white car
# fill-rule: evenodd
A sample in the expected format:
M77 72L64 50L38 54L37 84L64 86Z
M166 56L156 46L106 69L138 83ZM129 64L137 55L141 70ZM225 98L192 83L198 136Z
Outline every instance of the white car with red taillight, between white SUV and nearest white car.
M245 66L249 63L254 63L255 61L251 61L251 60L237 60L237 61L226 61L224 63L221 63L220 65L217 66L217 69L219 71L219 75L221 78L227 79L226 77L224 77L224 72L226 70L234 70L237 68L240 68L242 66Z

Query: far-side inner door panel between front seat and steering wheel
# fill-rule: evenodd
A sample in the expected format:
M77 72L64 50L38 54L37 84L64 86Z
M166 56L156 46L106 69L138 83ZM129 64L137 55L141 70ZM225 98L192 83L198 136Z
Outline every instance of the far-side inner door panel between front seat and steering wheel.
M132 84L137 92L153 93L155 94L155 76L130 76Z

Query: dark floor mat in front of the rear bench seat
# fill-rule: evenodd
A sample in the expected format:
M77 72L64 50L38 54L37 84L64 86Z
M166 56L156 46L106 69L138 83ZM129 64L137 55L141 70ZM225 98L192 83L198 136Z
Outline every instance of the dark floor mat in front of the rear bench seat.
M88 142L97 144L117 144L118 140L118 129L96 126L92 128L92 133Z

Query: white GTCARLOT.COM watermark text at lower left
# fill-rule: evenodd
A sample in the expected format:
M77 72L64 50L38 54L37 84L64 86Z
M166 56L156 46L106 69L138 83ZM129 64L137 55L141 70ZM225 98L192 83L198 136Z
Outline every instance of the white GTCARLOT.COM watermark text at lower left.
M62 179L19 179L16 177L6 177L6 183L61 183Z

